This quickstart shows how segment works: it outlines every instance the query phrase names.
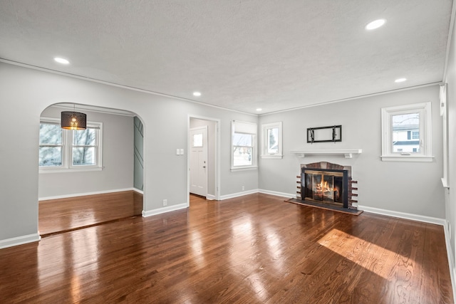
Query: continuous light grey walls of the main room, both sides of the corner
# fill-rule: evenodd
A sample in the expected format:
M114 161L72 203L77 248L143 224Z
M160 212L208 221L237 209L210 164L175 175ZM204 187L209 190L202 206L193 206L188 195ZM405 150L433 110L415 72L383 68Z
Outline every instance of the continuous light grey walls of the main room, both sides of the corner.
M432 101L432 150L435 162L381 162L380 108L424 101ZM8 143L0 146L0 248L38 239L39 117L49 105L64 102L128 110L140 117L144 124L145 211L160 211L163 199L167 199L171 208L188 203L187 152L182 157L177 156L175 150L178 147L188 147L187 123L190 113L197 117L214 117L220 121L221 196L239 194L242 186L246 192L266 189L295 194L299 164L327 160L353 166L353 178L359 181L360 205L436 218L445 217L445 199L440 183L442 122L437 86L258 118L0 63L1 112L9 113L2 117L2 125L6 127L0 133L1 142ZM450 108L454 106L454 103L450 104ZM455 134L455 109L450 109L451 113L450 136ZM258 171L231 172L232 120L259 122L259 130L261 123L282 121L284 158L259 159ZM307 127L326 125L343 126L342 142L312 146L306 144ZM303 147L363 149L363 153L353 159L298 159L290 153L290 150ZM455 142L451 142L451 149L450 154L454 154ZM454 158L451 159L450 166L452 172L455 172ZM450 200L454 201L454 198Z

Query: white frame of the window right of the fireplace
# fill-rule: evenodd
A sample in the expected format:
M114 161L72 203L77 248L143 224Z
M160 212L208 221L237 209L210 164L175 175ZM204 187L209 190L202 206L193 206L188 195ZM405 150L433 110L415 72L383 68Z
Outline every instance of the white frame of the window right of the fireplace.
M393 115L420 113L420 152L393 152ZM382 155L383 162L432 162L432 114L431 103L415 103L382 108Z

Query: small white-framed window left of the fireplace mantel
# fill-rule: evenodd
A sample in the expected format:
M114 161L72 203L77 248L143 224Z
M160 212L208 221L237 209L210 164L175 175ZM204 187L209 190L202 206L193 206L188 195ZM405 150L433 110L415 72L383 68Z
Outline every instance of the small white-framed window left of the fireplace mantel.
M261 125L261 158L282 158L282 122Z

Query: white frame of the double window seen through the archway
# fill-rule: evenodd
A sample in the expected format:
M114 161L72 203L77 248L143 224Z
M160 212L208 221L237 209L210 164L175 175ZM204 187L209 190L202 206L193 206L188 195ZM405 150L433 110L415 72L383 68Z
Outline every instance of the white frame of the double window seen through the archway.
M60 125L59 118L41 117L40 123ZM40 173L62 173L81 171L100 171L103 169L103 122L87 122L87 127L97 130L95 142L95 164L72 164L73 155L73 130L62 129L62 164L61 166L39 166Z

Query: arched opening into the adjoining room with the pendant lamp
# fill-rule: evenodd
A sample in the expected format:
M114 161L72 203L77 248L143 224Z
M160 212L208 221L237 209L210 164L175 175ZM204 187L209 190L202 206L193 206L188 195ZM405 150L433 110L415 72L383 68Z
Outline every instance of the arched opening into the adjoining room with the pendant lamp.
M144 209L142 137L140 140L132 137L133 130L138 129L138 116L125 110L76 105L87 114L88 126L91 123L90 126L98 127L88 127L76 134L73 130L62 131L58 121L61 111L68 107L74 105L54 104L41 112L38 176L41 236L141 216ZM89 135L99 138L93 140ZM131 157L132 150L140 152L135 153L135 159ZM77 162L81 153L90 162ZM93 154L99 158L90 158ZM141 157L139 171L137 154Z

